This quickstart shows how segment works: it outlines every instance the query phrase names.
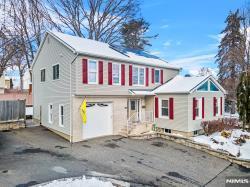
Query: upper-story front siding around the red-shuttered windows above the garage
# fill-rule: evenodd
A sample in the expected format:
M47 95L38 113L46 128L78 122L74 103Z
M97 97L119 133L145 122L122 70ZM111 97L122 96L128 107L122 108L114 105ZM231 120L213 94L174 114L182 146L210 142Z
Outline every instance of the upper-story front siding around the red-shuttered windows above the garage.
M103 61L103 85L100 84L83 84L82 83L82 59L93 59ZM121 85L108 85L108 62L125 64L125 86ZM76 90L75 93L79 95L130 95L129 89L153 89L160 84L152 84L151 69L156 67L149 67L149 86L129 86L129 64L123 62L115 62L105 59L97 59L93 57L79 56L74 66L76 69ZM141 67L147 67L142 66ZM159 68L160 69L160 68ZM163 82L178 75L179 70L163 69Z

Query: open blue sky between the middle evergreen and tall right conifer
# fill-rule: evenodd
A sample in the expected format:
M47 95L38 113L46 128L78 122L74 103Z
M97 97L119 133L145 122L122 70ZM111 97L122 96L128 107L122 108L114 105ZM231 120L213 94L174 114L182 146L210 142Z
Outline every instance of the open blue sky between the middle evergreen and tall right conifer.
M183 67L182 74L195 75L201 67L216 74L214 56L224 21L230 10L245 4L246 0L144 0L141 14L151 24L147 34L159 34L147 50Z

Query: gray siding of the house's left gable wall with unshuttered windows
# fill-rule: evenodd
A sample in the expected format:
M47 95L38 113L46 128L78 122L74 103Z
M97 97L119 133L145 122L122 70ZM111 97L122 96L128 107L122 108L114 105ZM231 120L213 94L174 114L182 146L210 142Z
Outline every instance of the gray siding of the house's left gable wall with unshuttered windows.
M70 131L70 63L74 58L75 55L68 48L48 35L32 70L34 119L40 120L41 106L42 125L65 134ZM58 80L53 80L54 64L59 64ZM41 83L40 70L44 68L46 80ZM48 123L49 103L53 105L52 124ZM64 127L59 126L59 104L64 105Z

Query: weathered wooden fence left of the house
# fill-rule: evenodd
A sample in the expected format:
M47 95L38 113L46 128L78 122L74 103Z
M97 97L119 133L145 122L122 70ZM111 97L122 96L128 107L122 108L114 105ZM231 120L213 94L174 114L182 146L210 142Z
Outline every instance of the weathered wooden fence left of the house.
M25 100L0 101L0 123L24 120Z

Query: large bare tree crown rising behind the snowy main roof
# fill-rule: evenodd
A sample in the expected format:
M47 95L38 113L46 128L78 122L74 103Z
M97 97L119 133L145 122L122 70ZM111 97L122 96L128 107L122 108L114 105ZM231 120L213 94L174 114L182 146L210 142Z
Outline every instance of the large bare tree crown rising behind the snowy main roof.
M113 44L122 24L139 10L137 0L48 0L53 23L61 31ZM57 22L57 23L56 23Z

